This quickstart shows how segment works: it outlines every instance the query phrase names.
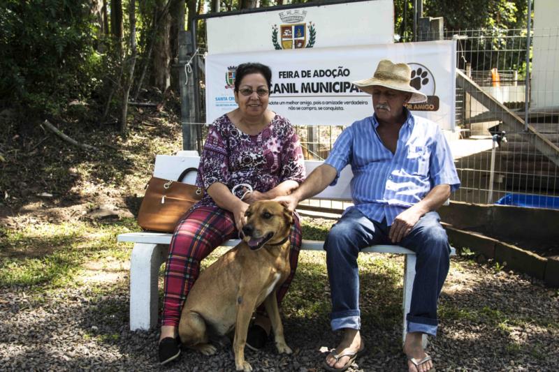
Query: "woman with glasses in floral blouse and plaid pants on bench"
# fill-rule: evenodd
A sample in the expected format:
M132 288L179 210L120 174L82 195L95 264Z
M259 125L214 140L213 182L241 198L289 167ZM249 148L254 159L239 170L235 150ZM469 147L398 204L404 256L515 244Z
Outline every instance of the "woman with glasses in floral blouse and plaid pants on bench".
M237 238L245 211L256 200L287 195L305 177L303 151L287 119L268 110L272 72L262 64L241 64L235 73L238 108L214 121L201 155L196 184L205 188L175 228L165 271L159 362L180 355L177 327L184 300L198 278L200 262L227 239ZM231 192L234 186L249 184ZM281 302L295 274L301 243L297 216L289 237L291 274L277 291ZM263 308L261 306L261 308ZM270 320L259 308L247 345L261 348L270 334Z

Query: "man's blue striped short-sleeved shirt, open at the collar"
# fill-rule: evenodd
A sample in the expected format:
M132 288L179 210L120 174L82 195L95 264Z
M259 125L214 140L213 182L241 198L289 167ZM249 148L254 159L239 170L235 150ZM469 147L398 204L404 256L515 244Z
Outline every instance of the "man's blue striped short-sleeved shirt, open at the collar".
M451 191L460 187L449 144L439 126L404 110L407 119L400 128L395 154L380 140L379 123L373 115L346 128L324 161L337 170L332 185L351 164L354 207L374 221L386 218L389 225L434 186L449 184Z

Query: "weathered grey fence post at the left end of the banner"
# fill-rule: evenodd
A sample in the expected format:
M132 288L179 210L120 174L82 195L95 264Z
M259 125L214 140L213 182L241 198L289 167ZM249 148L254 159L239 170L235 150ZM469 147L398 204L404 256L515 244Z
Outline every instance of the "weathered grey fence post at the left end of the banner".
M182 124L182 149L196 150L196 110L194 105L194 77L187 76L186 64L194 53L190 31L179 31L180 65L180 123Z

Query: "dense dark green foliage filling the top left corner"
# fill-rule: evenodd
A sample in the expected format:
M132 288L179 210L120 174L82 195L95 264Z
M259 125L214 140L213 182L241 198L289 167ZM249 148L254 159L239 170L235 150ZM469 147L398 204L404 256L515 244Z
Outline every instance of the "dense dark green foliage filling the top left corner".
M57 115L96 89L101 56L89 1L1 2L0 107Z

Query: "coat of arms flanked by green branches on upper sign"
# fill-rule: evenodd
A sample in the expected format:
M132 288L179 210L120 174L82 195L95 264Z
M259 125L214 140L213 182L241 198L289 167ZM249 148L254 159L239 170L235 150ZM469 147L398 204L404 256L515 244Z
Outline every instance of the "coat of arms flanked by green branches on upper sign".
M299 11L298 9L279 13L279 18L286 24L280 24L279 28L277 24L274 24L272 27L272 43L276 50L313 47L317 38L317 29L315 29L314 23L308 22L307 25L306 22L303 22L306 15L307 10ZM278 42L278 31L281 44Z

